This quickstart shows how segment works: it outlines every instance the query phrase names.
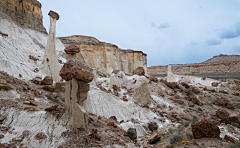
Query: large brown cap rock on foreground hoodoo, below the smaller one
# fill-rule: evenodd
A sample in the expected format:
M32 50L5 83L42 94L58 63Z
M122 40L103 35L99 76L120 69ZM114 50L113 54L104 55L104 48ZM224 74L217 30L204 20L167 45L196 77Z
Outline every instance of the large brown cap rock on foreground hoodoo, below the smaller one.
M86 83L92 81L94 75L92 70L80 62L69 62L65 63L59 73L62 79L69 81L72 78L82 80Z

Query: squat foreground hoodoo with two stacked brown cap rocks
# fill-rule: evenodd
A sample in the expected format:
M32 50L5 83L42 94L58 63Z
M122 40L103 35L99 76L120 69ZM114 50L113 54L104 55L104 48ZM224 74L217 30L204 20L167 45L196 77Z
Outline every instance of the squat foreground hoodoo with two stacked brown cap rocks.
M60 76L66 80L65 106L68 118L67 127L76 133L87 131L88 116L83 107L87 99L89 82L94 75L92 70L76 60L76 53L80 52L76 46L69 46L65 50L67 63L60 71Z

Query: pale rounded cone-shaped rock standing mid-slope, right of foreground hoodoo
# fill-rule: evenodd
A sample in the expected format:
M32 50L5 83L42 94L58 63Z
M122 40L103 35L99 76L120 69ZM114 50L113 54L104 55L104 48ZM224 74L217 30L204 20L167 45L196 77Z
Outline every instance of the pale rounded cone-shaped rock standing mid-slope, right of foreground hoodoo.
M135 102L140 104L148 104L150 102L151 96L146 77L141 76L137 79L137 82L134 86L133 98Z

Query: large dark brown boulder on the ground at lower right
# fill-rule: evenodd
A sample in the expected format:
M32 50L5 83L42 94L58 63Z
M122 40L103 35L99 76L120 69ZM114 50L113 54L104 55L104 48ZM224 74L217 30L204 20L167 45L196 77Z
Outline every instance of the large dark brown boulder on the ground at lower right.
M210 120L192 123L192 132L195 139L219 138L220 136L219 127Z

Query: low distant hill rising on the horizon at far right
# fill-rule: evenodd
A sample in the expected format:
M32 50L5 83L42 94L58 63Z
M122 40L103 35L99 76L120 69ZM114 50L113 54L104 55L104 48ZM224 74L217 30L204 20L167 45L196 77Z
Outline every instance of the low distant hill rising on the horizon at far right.
M239 62L240 55L224 55L220 54L218 56L214 56L211 59L208 59L202 63L223 63L223 62Z

